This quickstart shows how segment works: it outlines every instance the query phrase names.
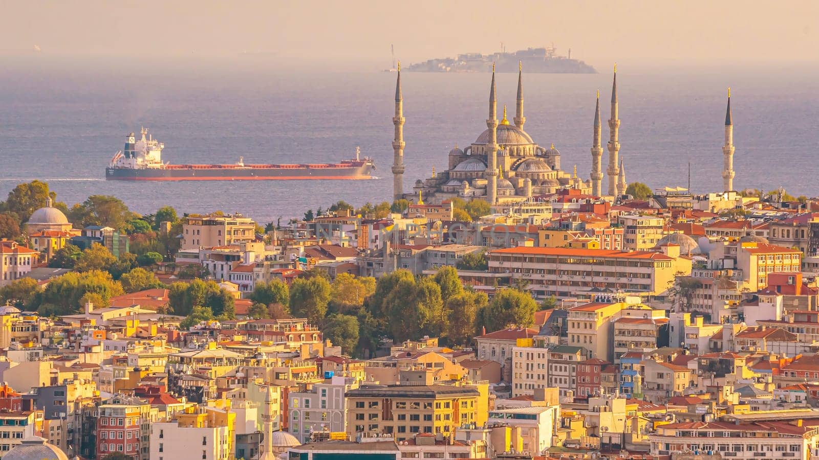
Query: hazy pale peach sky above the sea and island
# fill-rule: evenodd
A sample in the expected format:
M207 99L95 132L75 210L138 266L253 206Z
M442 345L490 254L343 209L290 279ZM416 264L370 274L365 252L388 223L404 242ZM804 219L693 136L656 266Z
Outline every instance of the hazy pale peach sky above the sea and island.
M235 56L384 67L554 43L595 65L819 60L819 2L0 2L0 55Z

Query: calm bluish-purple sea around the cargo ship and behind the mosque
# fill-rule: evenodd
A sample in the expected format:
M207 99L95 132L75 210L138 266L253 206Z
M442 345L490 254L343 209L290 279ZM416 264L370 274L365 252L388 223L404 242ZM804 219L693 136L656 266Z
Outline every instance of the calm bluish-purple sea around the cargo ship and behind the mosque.
M562 169L590 172L595 92L609 137L612 73L523 75L524 129L554 143ZM722 189L726 88L734 120L735 188L819 196L819 66L620 65L620 156L627 181ZM514 117L517 74L498 74L499 118ZM405 191L486 129L490 74L403 72ZM69 206L113 195L138 213L239 212L260 223L343 200L391 200L396 74L225 62L22 59L0 72L0 196L45 181ZM375 160L362 181L106 181L128 133L150 129L175 164ZM607 162L604 152L604 168ZM690 171L690 174L689 174Z

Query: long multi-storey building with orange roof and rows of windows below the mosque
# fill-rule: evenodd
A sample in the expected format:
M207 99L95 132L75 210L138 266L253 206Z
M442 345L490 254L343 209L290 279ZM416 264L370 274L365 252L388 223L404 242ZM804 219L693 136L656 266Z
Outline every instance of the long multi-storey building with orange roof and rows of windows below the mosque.
M679 246L664 253L551 247L509 247L489 253L486 272L459 273L464 282L483 286L526 283L538 299L590 295L600 291L660 295L677 275L691 272L691 259Z

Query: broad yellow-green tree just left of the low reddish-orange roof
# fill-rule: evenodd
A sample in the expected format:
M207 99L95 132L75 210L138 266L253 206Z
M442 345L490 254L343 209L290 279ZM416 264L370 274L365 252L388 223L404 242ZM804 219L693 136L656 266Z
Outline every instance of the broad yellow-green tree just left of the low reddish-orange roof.
M124 294L122 285L114 281L111 273L100 270L71 272L48 282L43 290L38 311L42 313L43 305L50 305L48 313L59 315L74 313L82 308L79 300L89 292L100 296L100 304L95 307L106 307L111 297Z

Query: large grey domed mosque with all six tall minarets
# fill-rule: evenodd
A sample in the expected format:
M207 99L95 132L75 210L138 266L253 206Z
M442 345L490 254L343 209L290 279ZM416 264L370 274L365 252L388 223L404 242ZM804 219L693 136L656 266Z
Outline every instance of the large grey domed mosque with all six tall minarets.
M609 125L608 166L603 171L602 123L600 120L600 92L597 93L595 120L592 129L591 174L588 180L577 178L577 167L573 174L560 169L560 152L554 148L539 146L523 130L526 117L523 115L523 68L518 69L518 98L515 115L510 122L504 107L503 118L497 119L498 101L495 96L495 69L489 90L489 116L486 129L475 142L463 150L457 145L449 153L446 171L432 177L415 181L413 191L404 192L404 98L401 95L401 72L398 67L396 79L396 111L392 117L395 126L393 149L393 199L426 201L440 204L441 201L461 198L482 198L491 205L531 200L533 196L543 196L563 188L575 188L583 194L604 197L615 201L626 194L626 169L619 157L620 120L618 118L617 65L614 66L611 111ZM726 110L725 145L722 147L724 165L722 177L724 188L733 190L733 123L731 121L731 89L728 91ZM603 191L604 175L608 187Z

